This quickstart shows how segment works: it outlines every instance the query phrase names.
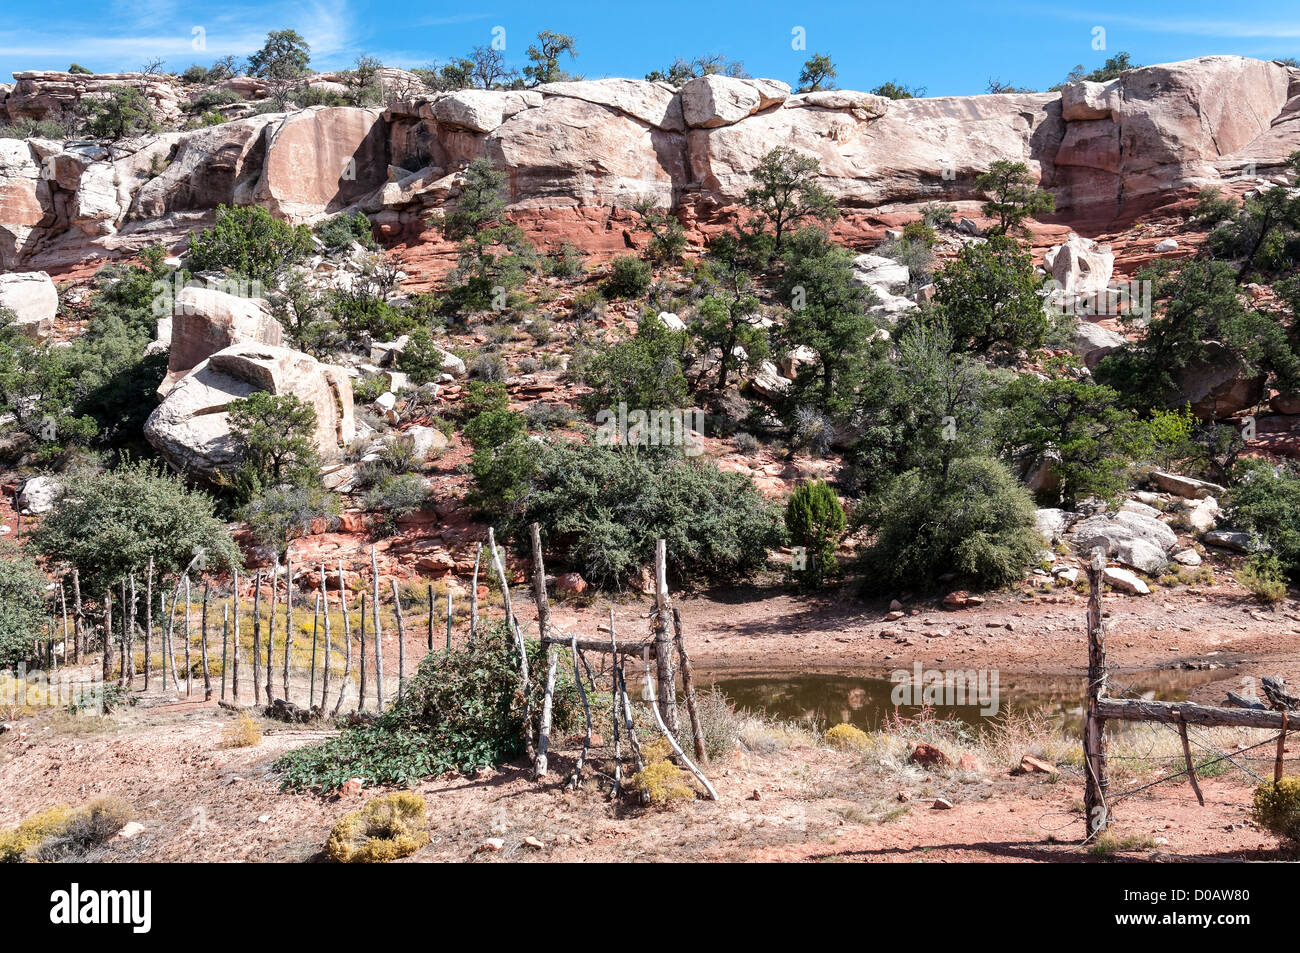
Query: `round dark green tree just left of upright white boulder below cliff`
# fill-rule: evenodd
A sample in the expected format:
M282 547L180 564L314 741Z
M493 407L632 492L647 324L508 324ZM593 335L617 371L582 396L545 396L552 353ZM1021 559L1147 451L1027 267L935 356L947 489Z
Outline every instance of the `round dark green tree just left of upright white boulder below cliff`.
M1048 333L1034 260L1009 235L963 246L935 274L935 302L963 350L1015 359Z

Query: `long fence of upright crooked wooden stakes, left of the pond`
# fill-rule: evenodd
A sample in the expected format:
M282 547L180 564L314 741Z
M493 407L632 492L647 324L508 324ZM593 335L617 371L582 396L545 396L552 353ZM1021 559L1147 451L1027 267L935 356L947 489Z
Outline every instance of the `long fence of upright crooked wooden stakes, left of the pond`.
M614 699L611 716L615 764L614 776L610 780L615 793L623 783L624 741L637 770L644 767L634 724L636 707L632 703L625 671L629 659L634 663L640 658L644 679L641 701L653 719L651 731L663 735L680 763L690 770L710 797L716 798L714 787L701 770L701 766L707 766L708 758L681 614L672 605L668 593L664 541L659 540L655 546L655 594L654 607L649 614L647 637L620 642L612 608L610 610L607 632L603 634L580 636L577 632L559 633L554 631L550 598L546 590L541 532L536 523L529 527L529 534L532 588L537 605L537 634L546 650L546 668L545 672L538 673L538 677L545 680L545 688L542 710L537 719L529 710L534 675L529 672L524 631L514 610L503 553L497 543L493 529L488 530L486 555L490 571L494 572L500 590L507 632L514 640L519 657L520 690L525 702L521 732L533 766L533 776L541 779L549 771L559 655L562 649L568 649L586 722L584 745L568 780L568 787L573 788L581 783L581 772L593 741L593 719L586 690L588 684L593 689L595 688L595 675L586 662L586 654L590 653L608 657L610 690ZM38 640L34 646L35 654L48 671L56 671L60 663L65 666L69 662L81 664L84 657L99 649L103 653L100 684L104 686L116 684L126 692L143 690L146 693L155 688L161 688L164 692L170 689L185 698L195 698L202 692L204 701L216 699L226 707L243 707L250 701L251 693L252 705L265 707L269 715L296 722L337 716L355 684L356 697L352 702L355 710L365 712L368 705L373 702L373 710L381 712L389 701L385 694L387 683L384 675L384 610L389 610L389 619L396 627L398 696L407 686L406 614L396 580L390 580L391 603L387 607L384 605L374 546L369 547L368 555L369 580L367 580L367 585L359 586L360 592L355 594L359 608L355 631L352 607L348 606L347 572L351 569L344 569L342 559L334 566L321 563L306 567L306 572L311 573L311 585L308 586L300 581L304 576L304 567L296 567L289 554L285 556L282 572L280 567L273 567L269 571L259 569L250 580L247 573L240 575L235 571L228 585L218 585L203 573L200 554L195 555L185 569L176 573L170 589L157 579L151 559L142 572L133 572L124 577L116 586L116 593L113 588L109 588L100 594L98 619L96 614L90 611L83 602L81 579L74 569L55 586L57 597L52 599L53 608L47 620L44 638ZM481 616L485 615L478 606L478 573L482 556L484 545L478 543L469 585L467 632L469 645L473 645L478 637ZM295 581L295 573L299 581ZM329 584L335 582L335 580L342 632L335 632L330 612ZM70 612L69 588L72 590ZM244 611L250 588L251 616ZM439 606L432 582L428 584L426 592L428 634L425 651L433 653L437 650L436 621ZM298 612L306 610L302 606L295 606L295 595L299 599L307 597L308 605L312 606L311 646L302 653L303 657L295 657L294 651L298 636L295 621L304 618L295 616L295 610ZM264 601L268 603L265 612L263 611ZM412 602L410 595L407 602L408 606ZM155 610L157 610L157 618ZM61 638L58 637L60 614ZM445 649L447 650L452 646L454 616L455 606L448 589L445 603ZM250 628L251 633L247 631ZM251 634L251 641L246 641L247 634ZM278 641L277 636L280 636ZM335 637L338 637L337 641ZM220 645L217 644L218 638ZM338 642L342 642L342 646ZM354 644L358 670L355 681L352 677ZM136 662L138 649L142 650L140 664ZM155 666L156 654L161 655L161 666ZM339 654L343 655L341 677L337 675ZM686 755L679 742L679 737L682 736L677 715L679 673L690 722L694 759ZM306 685L303 684L304 675ZM633 676L634 679L636 676ZM304 689L306 707L300 705ZM332 690L334 692L333 707L330 706Z

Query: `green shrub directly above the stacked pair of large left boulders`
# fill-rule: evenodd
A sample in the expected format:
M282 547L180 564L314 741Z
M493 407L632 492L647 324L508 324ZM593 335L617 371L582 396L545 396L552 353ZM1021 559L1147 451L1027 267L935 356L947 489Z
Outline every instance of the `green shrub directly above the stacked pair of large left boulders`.
M239 274L270 283L285 268L306 259L312 251L312 230L272 217L257 205L217 207L217 221L190 237L190 265L194 270Z

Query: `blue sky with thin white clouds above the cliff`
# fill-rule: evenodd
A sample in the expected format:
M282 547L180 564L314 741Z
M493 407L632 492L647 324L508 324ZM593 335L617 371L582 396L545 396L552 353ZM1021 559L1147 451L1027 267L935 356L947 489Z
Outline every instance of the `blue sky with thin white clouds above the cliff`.
M551 29L577 38L580 55L566 65L593 79L641 77L675 56L716 52L742 60L751 75L793 83L811 52L827 52L844 88L897 79L931 96L983 92L991 77L1045 88L1075 64L1091 69L1121 49L1143 64L1208 53L1300 57L1295 0L4 0L0 79L73 61L96 72L131 70L152 57L179 72L226 53L247 56L268 30L283 26L307 36L317 69L348 66L363 53L400 66L446 61L490 43L494 27L504 27L507 60L517 66L533 35ZM792 48L796 27L806 49ZM199 40L204 49L195 49Z

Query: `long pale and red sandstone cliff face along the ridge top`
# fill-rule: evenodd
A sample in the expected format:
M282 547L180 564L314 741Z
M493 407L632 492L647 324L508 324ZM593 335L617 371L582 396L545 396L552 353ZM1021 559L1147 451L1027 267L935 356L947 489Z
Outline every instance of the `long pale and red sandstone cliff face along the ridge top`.
M0 100L10 117L64 108L64 74L17 78ZM1300 148L1297 120L1300 70L1212 56L1049 94L892 101L790 94L768 79L705 77L681 90L599 79L250 116L112 148L8 139L0 267L57 270L177 243L218 204L296 222L359 208L387 238L412 237L478 156L508 170L512 212L540 246L602 254L625 246L621 209L647 196L707 233L774 146L820 160L849 238L920 203L978 199L974 179L997 159L1027 163L1058 218L1086 230L1205 185L1268 178Z

